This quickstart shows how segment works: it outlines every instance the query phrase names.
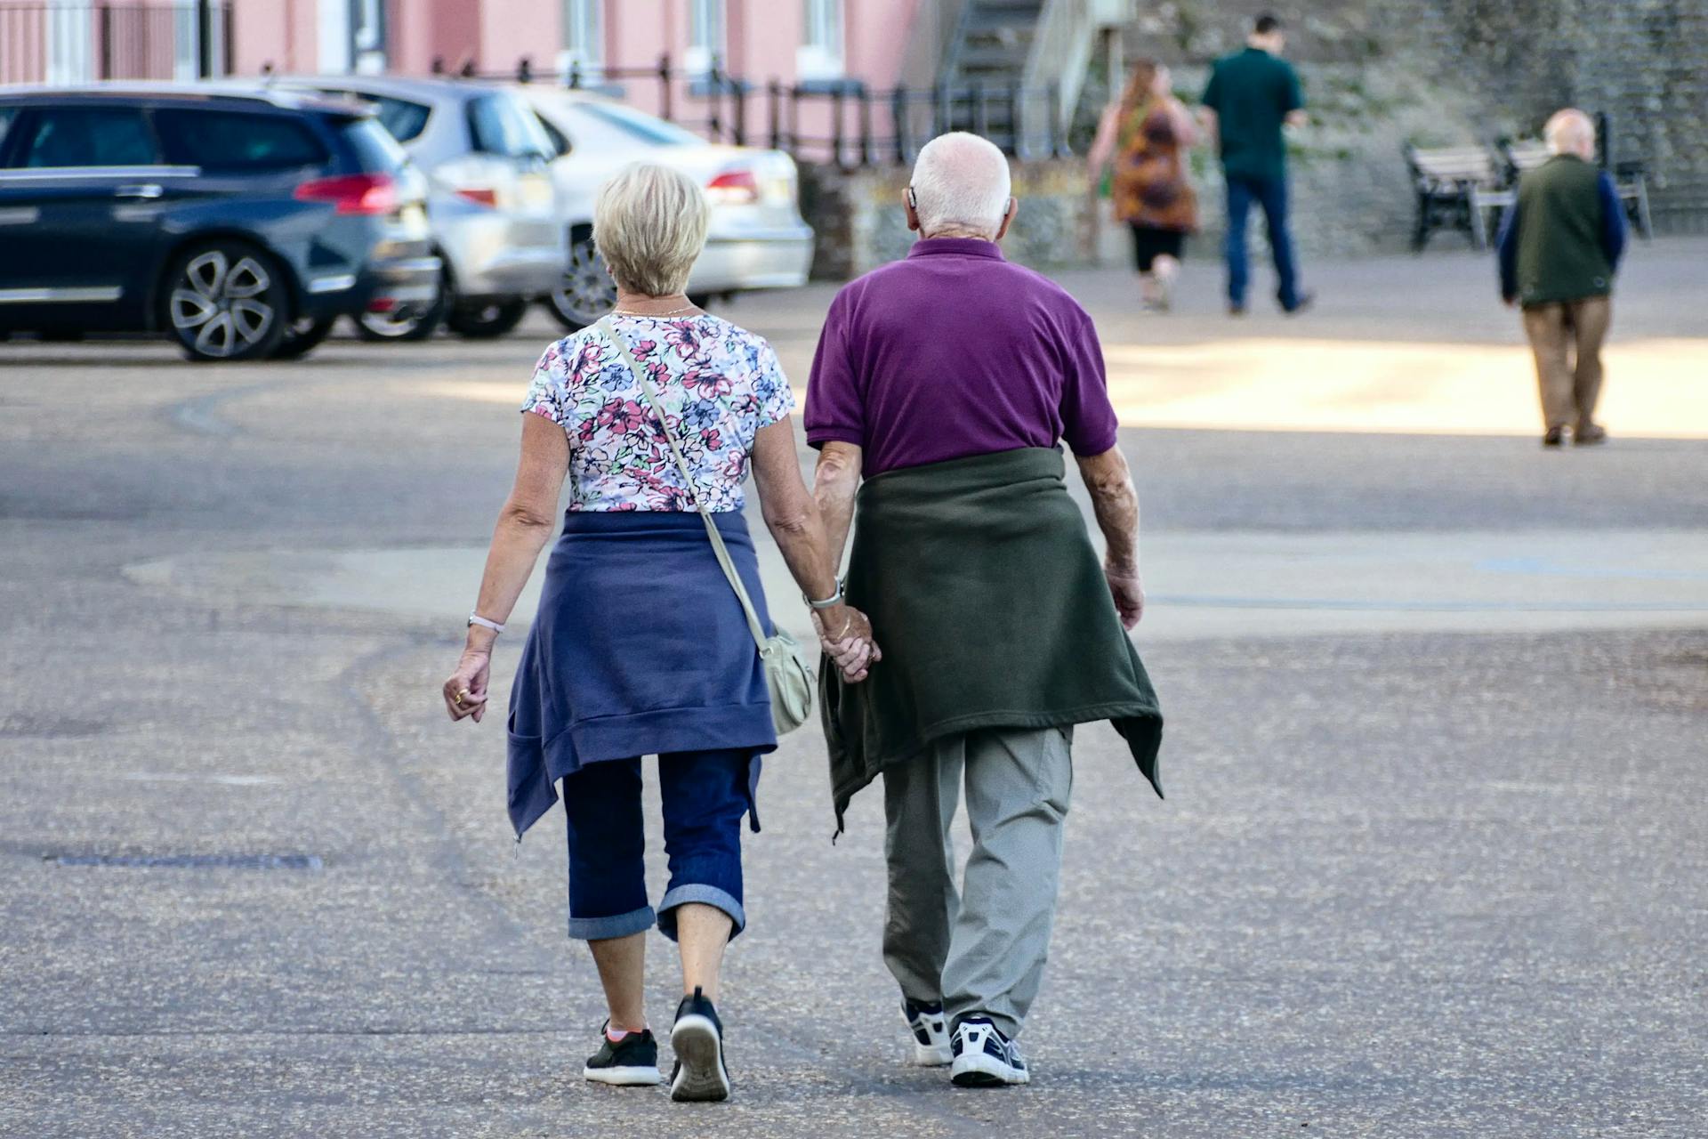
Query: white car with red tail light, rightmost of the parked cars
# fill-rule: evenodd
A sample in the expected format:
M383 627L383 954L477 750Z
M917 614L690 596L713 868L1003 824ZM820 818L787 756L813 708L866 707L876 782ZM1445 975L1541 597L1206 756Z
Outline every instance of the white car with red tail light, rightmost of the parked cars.
M552 137L552 178L569 229L569 270L550 295L565 328L611 309L617 287L593 248L593 196L629 162L661 162L692 176L712 202L705 253L693 265L695 297L806 283L813 231L801 219L794 159L781 150L711 143L622 102L564 87L514 87Z

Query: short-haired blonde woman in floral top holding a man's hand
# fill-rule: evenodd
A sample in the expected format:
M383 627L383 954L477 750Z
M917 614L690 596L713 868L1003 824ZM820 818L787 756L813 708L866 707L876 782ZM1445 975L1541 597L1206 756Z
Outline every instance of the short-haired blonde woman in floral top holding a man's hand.
M741 816L758 830L758 756L777 745L743 603L699 511L716 521L769 625L741 516L752 470L765 526L813 606L825 651L851 681L878 659L866 618L842 603L801 480L794 398L777 353L683 295L705 227L704 193L676 171L630 166L600 191L594 239L617 280L617 307L540 359L521 408L516 487L492 536L468 647L444 681L451 719L478 722L492 642L552 536L567 473L564 533L511 692L511 821L519 838L562 780L569 936L588 941L610 1006L588 1079L659 1083L642 1001L646 931L656 920L678 943L676 1100L729 1095L712 1002L724 944L746 924ZM670 859L656 912L642 864L644 755L659 756Z

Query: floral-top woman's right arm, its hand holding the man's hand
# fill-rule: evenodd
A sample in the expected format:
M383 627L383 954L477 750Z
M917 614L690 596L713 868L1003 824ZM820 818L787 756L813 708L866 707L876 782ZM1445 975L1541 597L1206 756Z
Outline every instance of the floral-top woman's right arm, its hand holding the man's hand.
M782 560L808 598L837 593L837 572L825 536L818 504L806 490L794 451L794 423L784 417L762 427L753 439L753 485L758 488L760 514L777 541ZM871 623L849 605L813 610L825 647L849 680L864 680L869 664L881 659L871 642Z

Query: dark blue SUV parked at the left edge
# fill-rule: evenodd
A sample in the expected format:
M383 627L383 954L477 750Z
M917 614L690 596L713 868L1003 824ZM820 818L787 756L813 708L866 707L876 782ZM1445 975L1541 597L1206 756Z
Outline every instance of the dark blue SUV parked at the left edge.
M284 92L0 87L0 336L164 331L302 355L434 304L425 183L369 109Z

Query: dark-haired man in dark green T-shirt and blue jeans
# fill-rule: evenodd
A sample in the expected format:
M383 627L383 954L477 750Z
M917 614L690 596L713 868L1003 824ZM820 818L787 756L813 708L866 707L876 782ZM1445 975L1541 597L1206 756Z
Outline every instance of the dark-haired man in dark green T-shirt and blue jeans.
M1305 121L1305 96L1293 65L1281 58L1286 38L1281 20L1259 15L1245 51L1216 61L1204 89L1204 125L1218 140L1221 171L1228 181L1228 312L1243 316L1250 266L1245 256L1245 219L1255 202L1269 227L1276 260L1276 299L1283 312L1310 306L1298 289L1293 236L1286 225L1286 138L1283 126Z

